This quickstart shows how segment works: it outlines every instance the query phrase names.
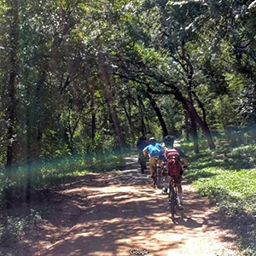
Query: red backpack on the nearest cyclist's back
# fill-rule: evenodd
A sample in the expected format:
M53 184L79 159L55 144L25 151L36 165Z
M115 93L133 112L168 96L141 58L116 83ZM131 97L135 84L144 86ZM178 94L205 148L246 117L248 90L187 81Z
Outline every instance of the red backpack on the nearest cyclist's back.
M170 176L179 175L183 172L179 154L174 148L166 148L164 156L166 158L166 170Z

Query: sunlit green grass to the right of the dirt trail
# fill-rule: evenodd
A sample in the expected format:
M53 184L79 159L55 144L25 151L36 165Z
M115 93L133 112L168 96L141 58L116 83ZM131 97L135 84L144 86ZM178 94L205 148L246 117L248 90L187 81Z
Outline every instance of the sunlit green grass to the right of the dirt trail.
M186 178L207 196L239 237L241 253L256 255L256 146L226 145L189 154Z

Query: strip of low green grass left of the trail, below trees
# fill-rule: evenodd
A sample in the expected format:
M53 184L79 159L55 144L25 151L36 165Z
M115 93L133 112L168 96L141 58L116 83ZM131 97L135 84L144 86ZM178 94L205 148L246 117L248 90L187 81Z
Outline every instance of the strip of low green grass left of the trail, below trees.
M20 189L26 187L28 177L33 189L45 189L71 181L80 174L118 170L124 165L123 156L116 154L41 160L31 166L14 168L9 172L8 179L0 172L0 195L4 188L15 189L20 193Z

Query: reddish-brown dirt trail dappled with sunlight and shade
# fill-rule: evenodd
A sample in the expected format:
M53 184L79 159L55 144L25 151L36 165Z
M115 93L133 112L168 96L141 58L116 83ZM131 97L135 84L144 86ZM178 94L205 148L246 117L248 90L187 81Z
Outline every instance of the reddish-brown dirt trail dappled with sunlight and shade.
M221 215L189 184L183 185L185 209L174 224L166 195L153 189L148 175L137 168L130 165L85 181L80 193L87 195L89 205L59 241L38 255L240 255Z

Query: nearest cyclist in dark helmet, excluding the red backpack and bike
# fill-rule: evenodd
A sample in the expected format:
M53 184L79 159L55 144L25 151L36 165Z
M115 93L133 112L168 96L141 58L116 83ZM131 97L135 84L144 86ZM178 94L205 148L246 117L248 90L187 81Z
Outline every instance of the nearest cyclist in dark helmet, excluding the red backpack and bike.
M180 159L183 161L183 170L185 170L188 167L188 158L186 156L186 154L183 153L183 150L177 147L174 147L174 137L168 135L164 138L164 144L165 144L165 149L166 148L175 148L179 154ZM166 162L166 159L164 160L164 162ZM183 172L181 172L180 174L173 176L176 186L177 186L177 207L179 210L183 210L183 188L182 188L182 176L183 176ZM163 194L167 193L168 190L168 185L167 182L170 182L170 177L166 176L166 183L164 183L164 187L163 187Z

